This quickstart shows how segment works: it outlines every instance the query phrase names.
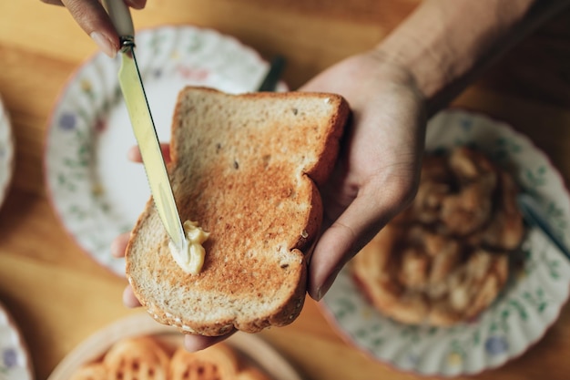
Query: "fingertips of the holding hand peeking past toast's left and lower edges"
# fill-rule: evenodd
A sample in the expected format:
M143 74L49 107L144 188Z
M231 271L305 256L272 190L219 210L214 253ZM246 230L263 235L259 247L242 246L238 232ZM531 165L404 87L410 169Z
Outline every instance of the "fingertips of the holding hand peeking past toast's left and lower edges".
M170 160L170 147L168 144L161 144L160 148L162 150L162 156L164 157L165 162L168 163ZM142 162L142 158L140 157L140 150L138 150L138 147L133 147L128 151L128 159L134 162ZM117 259L125 257L129 236L130 232L119 235L111 244L111 254ZM137 296L135 296L135 293L133 293L133 289L130 287L130 285L127 285L125 291L123 292L123 303L127 307L140 307ZM220 336L201 336L187 334L184 336L184 346L190 352L199 351L209 347L212 344L216 344L220 341L223 341L224 339L229 338L229 336L234 333L235 331L232 331L229 334Z

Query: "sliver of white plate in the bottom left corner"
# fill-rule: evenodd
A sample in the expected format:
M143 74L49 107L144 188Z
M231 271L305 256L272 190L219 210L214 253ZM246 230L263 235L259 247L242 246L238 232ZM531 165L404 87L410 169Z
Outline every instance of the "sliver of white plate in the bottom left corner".
M0 379L32 380L32 363L14 319L0 303Z

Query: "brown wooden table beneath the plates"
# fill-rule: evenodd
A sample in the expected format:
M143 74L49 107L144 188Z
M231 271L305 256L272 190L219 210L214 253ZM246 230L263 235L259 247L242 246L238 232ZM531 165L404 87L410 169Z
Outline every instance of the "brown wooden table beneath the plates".
M286 56L299 87L344 56L373 46L412 11L400 0L149 0L138 28L194 24L219 29L269 57ZM15 133L15 174L0 210L0 300L29 345L36 378L89 334L133 313L125 280L98 266L56 218L43 174L46 120L67 77L96 46L66 10L38 0L0 3L0 94ZM527 38L468 88L456 105L512 123L570 180L570 13ZM308 300L288 327L262 334L310 379L410 379L345 344ZM570 307L538 344L478 379L567 379Z

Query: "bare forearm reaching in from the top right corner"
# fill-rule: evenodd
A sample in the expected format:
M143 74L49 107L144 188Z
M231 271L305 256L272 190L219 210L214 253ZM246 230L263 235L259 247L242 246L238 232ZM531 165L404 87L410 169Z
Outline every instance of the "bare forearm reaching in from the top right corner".
M377 46L410 72L431 115L568 0L424 0Z

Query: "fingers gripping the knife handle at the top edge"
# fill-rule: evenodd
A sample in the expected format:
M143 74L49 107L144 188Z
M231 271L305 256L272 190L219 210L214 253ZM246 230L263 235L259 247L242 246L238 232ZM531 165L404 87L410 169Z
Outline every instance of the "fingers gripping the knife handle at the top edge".
M107 56L117 55L119 40L115 26L99 0L41 0L46 4L64 5L77 24L91 36ZM124 0L133 9L142 9L147 0Z

